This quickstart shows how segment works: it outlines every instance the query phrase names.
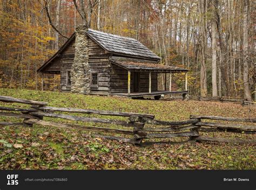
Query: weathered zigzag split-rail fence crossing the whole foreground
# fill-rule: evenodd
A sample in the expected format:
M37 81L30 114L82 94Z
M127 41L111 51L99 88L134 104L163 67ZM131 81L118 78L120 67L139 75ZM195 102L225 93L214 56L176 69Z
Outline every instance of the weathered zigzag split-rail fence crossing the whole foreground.
M139 114L133 112L119 112L119 111L104 111L104 110L92 110L92 109L78 109L78 108L56 108L49 107L47 102L39 102L32 100L24 100L8 96L0 96L0 102L8 103L23 103L30 104L30 108L11 108L0 107L0 116L3 117L17 117L23 118L23 122L1 122L0 125L23 125L32 127L33 124L39 124L43 126L54 126L57 128L69 128L79 129L85 131L93 131L98 133L83 133L84 137L100 137L106 139L119 140L126 143L142 144L146 139L169 139L174 137L187 137L182 142L228 142L228 143L256 143L255 136L252 139L245 138L218 138L207 137L200 135L201 132L234 132L234 133L256 133L256 117L252 118L231 118L231 117L218 117L218 116L196 116L191 115L190 119L186 121L160 121L154 119L154 115L151 114ZM56 113L57 112L57 113ZM105 119L97 117L84 117L73 116L66 114L59 114L59 112L79 113L79 114L93 114L103 116L118 116L127 117L126 121L123 119ZM109 124L111 126L120 125L130 130L123 130L118 128L105 128L97 126L86 126L67 123L56 123L50 121L44 121L44 117L53 117L61 119L69 119L71 121L90 122L90 123L102 123ZM207 119L207 122L204 120ZM216 123L208 122L209 120L236 122L236 123ZM237 124L237 122L247 122L251 125ZM252 125L253 124L253 125ZM105 126L105 125L104 125ZM104 133L104 135L102 135ZM105 133L118 134L118 136L106 136ZM130 136L128 138L127 136ZM166 142L166 141L165 141ZM168 142L168 141L167 141ZM159 141L150 143L159 143Z

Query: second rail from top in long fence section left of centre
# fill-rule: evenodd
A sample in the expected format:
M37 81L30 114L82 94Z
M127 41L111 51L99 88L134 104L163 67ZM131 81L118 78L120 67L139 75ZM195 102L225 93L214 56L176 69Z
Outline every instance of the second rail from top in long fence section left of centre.
M72 121L82 121L82 122L93 122L93 123L108 123L108 124L116 124L122 126L140 126L140 123L126 122L126 121L118 121L114 119L100 119L95 117L79 117L79 116L70 116L64 114L51 114L45 112L30 112L31 115L34 116L45 116L45 117L56 117L62 119L69 119Z

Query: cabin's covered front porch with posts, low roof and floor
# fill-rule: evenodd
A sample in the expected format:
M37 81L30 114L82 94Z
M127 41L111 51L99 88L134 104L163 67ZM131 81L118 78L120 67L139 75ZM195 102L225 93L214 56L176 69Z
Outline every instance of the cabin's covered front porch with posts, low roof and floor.
M185 96L187 91L187 69L173 67L173 66L164 66L160 64L147 64L142 62L129 62L129 61L111 61L112 64L117 65L119 67L124 68L127 71L127 91L124 92L111 92L110 95L117 96L126 96L126 97L143 97L143 96L154 96L156 99L159 99L161 95L165 94L182 94ZM165 74L165 89L158 90L155 87L152 88L152 74ZM185 73L185 89L180 91L172 90L172 77L174 73ZM137 90L138 86L140 86L140 74L147 75L147 90ZM169 74L169 77L167 77ZM132 80L131 80L131 75ZM167 82L168 80L168 82ZM167 83L169 86L167 87ZM136 89L136 90L134 90ZM138 88L140 89L140 88ZM144 88L145 89L145 88Z

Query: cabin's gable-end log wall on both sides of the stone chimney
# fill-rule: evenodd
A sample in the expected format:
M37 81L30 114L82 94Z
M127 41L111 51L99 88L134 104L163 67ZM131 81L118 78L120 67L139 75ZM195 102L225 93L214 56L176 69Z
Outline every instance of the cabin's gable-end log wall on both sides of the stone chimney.
M71 88L66 86L67 71L71 70L75 58L75 40L62 53L61 89L69 92ZM98 73L98 86L91 86L90 94L107 95L109 93L109 55L89 39L89 64L90 72Z

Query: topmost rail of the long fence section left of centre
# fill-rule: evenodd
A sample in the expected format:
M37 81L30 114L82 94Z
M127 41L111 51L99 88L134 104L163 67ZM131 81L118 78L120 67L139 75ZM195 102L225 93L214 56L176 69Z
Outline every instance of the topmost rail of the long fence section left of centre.
M120 112L120 111L104 111L104 110L93 110L93 109L79 109L79 108L56 108L50 106L44 107L34 107L42 111L65 111L65 112L74 112L74 113L81 113L81 114L99 114L99 115L109 115L109 116L122 116L122 117L131 117L131 116L138 116L138 117L146 117L146 118L154 118L152 114L138 114L133 112Z

